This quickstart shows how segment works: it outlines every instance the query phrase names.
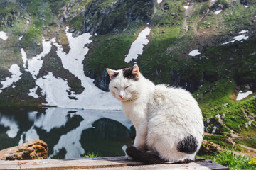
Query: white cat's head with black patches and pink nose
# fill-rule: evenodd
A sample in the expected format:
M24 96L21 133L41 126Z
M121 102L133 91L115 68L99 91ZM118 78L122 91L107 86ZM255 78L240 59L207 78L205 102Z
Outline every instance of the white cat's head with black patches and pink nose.
M139 67L134 65L131 68L113 70L107 69L110 75L110 92L119 101L132 101L138 97L139 89L137 84L142 74Z

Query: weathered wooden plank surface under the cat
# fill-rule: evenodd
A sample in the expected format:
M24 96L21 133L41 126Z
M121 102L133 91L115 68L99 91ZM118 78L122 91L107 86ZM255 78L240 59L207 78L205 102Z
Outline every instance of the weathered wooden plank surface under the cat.
M0 161L0 169L228 169L225 166L216 164L215 162L206 161L205 159L196 158L195 162L188 164L156 164L145 165L141 162L134 162L124 157L102 157L87 159L45 159L45 160L23 160L23 161Z

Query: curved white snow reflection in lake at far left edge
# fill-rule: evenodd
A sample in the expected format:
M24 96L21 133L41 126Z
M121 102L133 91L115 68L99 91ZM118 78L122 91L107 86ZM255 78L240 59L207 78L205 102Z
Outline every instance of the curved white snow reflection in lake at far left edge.
M10 138L16 137L19 129L14 120L11 120L5 115L0 115L0 125L3 125L5 128L9 128L9 130L6 131L6 135L8 135Z

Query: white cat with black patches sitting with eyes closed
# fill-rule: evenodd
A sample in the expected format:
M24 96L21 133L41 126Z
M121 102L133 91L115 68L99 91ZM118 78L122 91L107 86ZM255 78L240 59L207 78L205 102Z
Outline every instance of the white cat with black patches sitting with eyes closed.
M154 85L137 64L107 69L107 73L112 96L122 102L136 130L127 158L146 164L193 161L204 132L201 109L193 96L185 89Z

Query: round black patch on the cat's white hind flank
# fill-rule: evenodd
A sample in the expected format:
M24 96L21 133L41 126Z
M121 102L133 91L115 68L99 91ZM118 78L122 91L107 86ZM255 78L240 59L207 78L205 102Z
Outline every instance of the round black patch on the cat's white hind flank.
M183 152L186 154L195 153L197 148L198 148L198 142L196 140L196 137L193 137L192 135L185 137L183 140L178 142L178 145L177 145L177 150L179 152Z

